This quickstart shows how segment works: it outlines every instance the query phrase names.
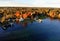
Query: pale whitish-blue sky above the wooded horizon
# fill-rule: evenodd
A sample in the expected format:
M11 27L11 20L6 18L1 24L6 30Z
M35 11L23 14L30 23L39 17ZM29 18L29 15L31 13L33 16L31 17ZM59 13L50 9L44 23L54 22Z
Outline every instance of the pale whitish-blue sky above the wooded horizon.
M60 8L60 0L0 0L0 6Z

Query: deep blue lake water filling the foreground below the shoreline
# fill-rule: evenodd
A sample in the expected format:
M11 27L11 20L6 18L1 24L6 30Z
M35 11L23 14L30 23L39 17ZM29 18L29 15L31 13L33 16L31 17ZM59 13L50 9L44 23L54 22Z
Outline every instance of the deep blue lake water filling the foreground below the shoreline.
M0 41L60 41L60 21L43 19L42 23L14 23L3 30L0 27Z

